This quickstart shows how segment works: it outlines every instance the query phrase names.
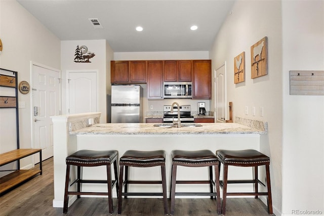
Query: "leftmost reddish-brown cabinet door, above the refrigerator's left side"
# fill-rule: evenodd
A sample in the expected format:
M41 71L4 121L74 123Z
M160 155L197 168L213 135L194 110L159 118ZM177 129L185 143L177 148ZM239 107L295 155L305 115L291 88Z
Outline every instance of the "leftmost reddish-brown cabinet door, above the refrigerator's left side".
M111 61L110 73L111 83L128 83L129 61Z

